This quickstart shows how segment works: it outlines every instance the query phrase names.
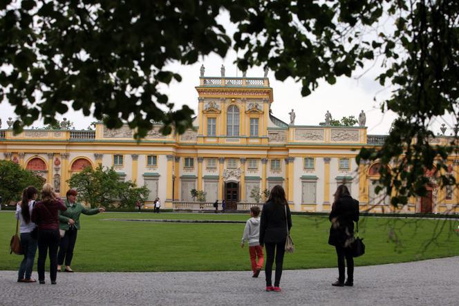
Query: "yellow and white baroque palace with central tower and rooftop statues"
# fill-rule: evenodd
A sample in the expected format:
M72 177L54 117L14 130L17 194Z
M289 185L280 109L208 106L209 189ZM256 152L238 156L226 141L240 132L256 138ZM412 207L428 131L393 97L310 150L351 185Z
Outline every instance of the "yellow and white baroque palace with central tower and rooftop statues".
M60 195L73 173L113 166L121 180L150 189L146 207L159 197L167 209L212 209L215 200L226 200L227 209L244 210L256 202L252 190L280 184L292 211L330 211L335 189L346 184L361 210L391 211L389 197L375 195L380 164L355 162L362 146L379 146L385 136L367 135L365 126L294 125L294 114L290 124L282 122L270 111L273 92L266 76L224 77L223 71L222 77L204 77L201 70L196 90L194 129L182 135L164 136L155 126L138 143L127 125L110 130L103 124L95 131L31 129L14 135L9 119L0 130L0 158L35 171ZM448 163L459 181L459 157ZM435 177L431 182L426 197L411 198L402 210L458 213L459 191L440 189ZM194 202L191 189L206 192L205 204Z

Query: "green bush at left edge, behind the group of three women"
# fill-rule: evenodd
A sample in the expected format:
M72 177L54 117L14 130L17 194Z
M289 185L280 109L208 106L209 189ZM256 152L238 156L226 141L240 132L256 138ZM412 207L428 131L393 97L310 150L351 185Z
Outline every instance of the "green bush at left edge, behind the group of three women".
M22 169L10 160L0 160L0 196L3 204L19 201L22 191L29 186L41 190L45 180L32 171Z

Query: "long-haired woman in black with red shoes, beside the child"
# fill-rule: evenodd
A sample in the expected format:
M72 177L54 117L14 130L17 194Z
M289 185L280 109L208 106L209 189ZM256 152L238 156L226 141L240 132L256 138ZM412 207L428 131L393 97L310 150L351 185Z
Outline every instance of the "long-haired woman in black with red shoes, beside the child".
M268 202L263 205L260 220L260 245L261 247L265 245L266 249L266 291L281 291L279 283L281 283L287 227L290 231L292 227L290 208L285 200L285 191L281 186L276 185L271 190ZM273 287L271 276L274 254L276 255L276 276Z

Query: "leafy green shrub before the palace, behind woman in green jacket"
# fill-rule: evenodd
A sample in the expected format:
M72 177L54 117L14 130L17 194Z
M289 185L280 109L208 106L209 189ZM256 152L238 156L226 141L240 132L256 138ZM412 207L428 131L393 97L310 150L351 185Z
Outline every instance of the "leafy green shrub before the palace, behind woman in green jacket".
M147 187L137 187L135 182L120 181L120 176L113 167L91 166L75 173L68 180L71 188L78 191L78 200L91 207L135 208L135 202L148 198Z

